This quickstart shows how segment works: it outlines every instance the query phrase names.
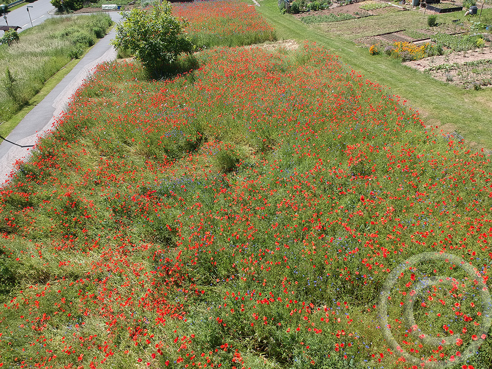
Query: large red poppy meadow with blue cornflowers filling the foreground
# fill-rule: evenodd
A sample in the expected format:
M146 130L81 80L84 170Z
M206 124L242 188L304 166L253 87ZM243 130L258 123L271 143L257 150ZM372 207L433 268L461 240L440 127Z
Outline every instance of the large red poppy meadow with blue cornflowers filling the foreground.
M487 151L309 42L194 57L99 65L1 188L0 367L489 368Z

